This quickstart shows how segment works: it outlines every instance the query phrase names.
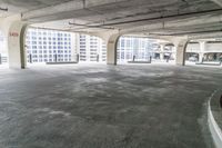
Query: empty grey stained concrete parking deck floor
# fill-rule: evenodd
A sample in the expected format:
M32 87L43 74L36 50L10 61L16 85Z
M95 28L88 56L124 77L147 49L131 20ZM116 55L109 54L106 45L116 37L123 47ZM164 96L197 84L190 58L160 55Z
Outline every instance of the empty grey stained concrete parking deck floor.
M210 148L220 68L48 66L0 70L0 148Z

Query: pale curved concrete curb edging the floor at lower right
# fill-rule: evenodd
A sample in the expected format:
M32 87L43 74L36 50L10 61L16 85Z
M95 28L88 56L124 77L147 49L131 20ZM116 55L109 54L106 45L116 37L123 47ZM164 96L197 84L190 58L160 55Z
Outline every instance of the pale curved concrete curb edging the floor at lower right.
M209 124L210 132L213 138L215 148L222 148L222 131L214 117L214 114L213 114L214 110L212 110L212 107L213 107L212 101L213 99L218 97L218 93L219 93L219 90L215 90L210 97L209 105L208 105L209 106L208 107L208 124Z

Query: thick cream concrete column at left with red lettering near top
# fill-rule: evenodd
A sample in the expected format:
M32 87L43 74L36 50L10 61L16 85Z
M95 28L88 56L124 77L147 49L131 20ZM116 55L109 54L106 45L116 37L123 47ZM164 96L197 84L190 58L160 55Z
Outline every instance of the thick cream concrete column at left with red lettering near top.
M24 69L26 56L26 30L27 24L21 21L11 23L8 32L9 68Z

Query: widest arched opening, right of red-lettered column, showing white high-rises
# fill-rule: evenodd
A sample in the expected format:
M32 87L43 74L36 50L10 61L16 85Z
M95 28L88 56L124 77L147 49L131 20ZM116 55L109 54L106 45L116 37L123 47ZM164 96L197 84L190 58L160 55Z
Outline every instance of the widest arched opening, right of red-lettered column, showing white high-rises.
M107 60L107 47L102 39L57 30L30 28L27 32L28 62L56 62Z

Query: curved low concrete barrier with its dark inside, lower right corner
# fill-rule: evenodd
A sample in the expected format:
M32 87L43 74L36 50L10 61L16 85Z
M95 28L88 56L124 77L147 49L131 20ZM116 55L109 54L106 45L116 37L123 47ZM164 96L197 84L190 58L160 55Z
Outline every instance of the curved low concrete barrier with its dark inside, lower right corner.
M222 97L220 92L221 92L220 90L215 90L212 93L209 100L209 107L208 107L208 122L209 122L209 128L210 128L214 145L215 145L215 148L222 148L222 130L219 125L219 120L222 117L222 110L221 110L221 105L220 105ZM219 114L221 116L215 118L215 114Z

